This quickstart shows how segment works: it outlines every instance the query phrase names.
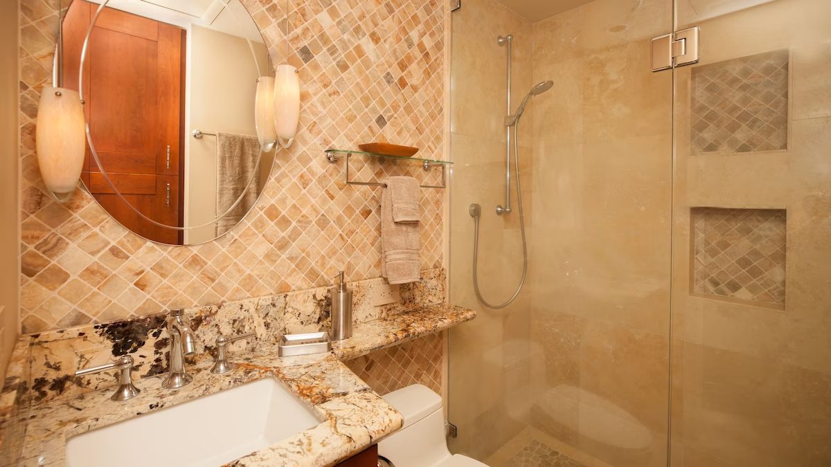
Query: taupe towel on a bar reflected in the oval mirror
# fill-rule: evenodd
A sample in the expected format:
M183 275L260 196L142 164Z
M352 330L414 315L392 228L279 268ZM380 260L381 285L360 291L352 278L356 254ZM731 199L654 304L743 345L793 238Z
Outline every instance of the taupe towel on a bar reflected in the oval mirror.
M257 136L218 133L216 135L216 215L222 215L242 195L243 199L217 220L216 234L222 235L243 220L260 192ZM245 185L253 177L248 191Z

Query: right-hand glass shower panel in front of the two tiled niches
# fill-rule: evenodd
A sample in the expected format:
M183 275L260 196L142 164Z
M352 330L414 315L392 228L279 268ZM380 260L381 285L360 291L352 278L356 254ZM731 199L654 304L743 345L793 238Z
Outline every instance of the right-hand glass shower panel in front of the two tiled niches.
M831 2L677 17L671 465L831 465Z

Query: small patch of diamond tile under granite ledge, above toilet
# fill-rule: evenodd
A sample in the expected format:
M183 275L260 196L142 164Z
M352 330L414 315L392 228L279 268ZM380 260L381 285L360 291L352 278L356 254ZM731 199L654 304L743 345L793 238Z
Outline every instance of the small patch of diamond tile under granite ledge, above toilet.
M443 351L444 338L439 332L359 356L346 364L381 395L414 384L441 394Z

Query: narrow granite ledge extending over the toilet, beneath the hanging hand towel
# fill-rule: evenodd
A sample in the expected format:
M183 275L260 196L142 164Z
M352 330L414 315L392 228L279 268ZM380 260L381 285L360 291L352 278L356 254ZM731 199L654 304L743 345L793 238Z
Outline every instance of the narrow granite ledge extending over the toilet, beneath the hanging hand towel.
M421 307L411 312L356 324L352 337L332 342L332 351L342 361L352 360L371 351L454 327L475 317L474 310L447 303Z

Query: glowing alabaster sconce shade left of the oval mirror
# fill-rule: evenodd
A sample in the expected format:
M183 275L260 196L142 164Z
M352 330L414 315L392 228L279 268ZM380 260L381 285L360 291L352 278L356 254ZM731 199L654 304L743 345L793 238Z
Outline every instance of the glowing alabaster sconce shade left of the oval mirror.
M43 183L55 199L68 199L81 177L86 150L84 107L77 91L43 88L35 138Z

